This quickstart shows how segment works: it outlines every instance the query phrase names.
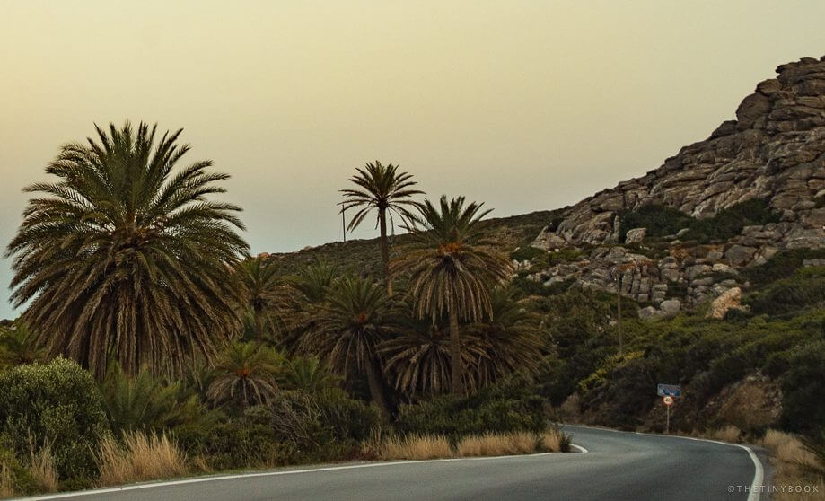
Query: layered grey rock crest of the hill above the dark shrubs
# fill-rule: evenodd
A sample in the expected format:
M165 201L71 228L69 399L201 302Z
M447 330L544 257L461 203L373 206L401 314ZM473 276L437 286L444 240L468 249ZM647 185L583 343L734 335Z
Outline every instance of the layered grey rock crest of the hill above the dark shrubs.
M814 200L825 189L825 57L806 57L777 67L777 73L742 101L735 120L645 176L570 207L537 245L613 242L617 213L646 204L707 217L749 198L766 198L782 213L785 224L768 230L775 233L773 245L825 245L825 207ZM734 259L763 257L759 248L734 253Z

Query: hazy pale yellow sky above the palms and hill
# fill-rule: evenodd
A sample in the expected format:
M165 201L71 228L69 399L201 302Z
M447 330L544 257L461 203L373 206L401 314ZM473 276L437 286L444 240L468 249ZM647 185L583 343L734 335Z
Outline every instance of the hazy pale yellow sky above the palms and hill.
M0 241L60 145L125 120L183 127L184 160L233 176L253 252L340 240L338 189L375 159L493 215L564 207L825 55L822 19L821 0L0 0Z

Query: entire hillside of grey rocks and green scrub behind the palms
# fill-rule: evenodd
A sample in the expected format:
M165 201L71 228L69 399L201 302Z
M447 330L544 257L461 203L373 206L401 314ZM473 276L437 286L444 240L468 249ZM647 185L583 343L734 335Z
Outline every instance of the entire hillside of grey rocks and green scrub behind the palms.
M485 224L551 348L536 381L559 418L810 432L825 419L825 57L777 67L705 141L572 207ZM393 239L403 251L404 235ZM379 275L377 240L272 254ZM623 347L616 291L623 296Z

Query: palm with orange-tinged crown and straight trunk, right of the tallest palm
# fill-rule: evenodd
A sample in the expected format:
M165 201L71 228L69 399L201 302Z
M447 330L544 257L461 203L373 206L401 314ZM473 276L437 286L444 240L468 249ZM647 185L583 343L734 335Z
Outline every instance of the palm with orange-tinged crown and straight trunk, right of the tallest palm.
M492 314L490 286L510 277L510 261L490 247L478 221L490 210L484 204L464 205L464 197L439 206L429 200L417 204L408 226L415 244L393 263L393 273L407 273L408 294L419 318L447 318L450 329L451 385L461 393L462 361L459 321L478 321Z

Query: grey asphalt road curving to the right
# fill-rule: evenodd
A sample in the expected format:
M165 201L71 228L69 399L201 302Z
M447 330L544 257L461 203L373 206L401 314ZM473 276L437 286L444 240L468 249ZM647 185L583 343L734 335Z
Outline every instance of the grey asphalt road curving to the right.
M763 483L748 450L685 438L566 426L586 453L378 462L204 477L39 499L746 500ZM759 461L759 460L756 460ZM733 489L733 492L731 490ZM750 497L750 500L759 497Z

